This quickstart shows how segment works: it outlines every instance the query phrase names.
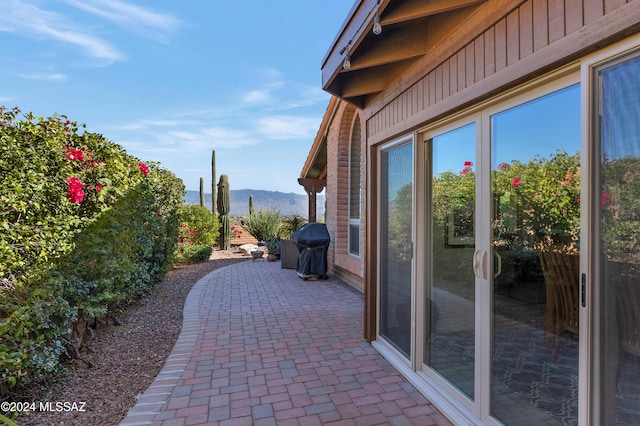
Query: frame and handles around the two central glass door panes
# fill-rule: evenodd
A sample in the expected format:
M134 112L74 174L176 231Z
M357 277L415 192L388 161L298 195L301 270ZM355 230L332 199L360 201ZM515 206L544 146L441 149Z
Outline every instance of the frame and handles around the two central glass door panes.
M477 416L477 418L481 419L485 424L489 425L499 425L502 424L496 419L490 416L491 414L491 352L492 352L492 271L497 267L495 265L495 259L492 255L491 250L491 117L499 112L508 110L512 107L519 106L525 104L531 100L543 97L547 94L553 93L557 90L564 89L566 87L581 84L581 92L584 89L584 80L581 81L578 65L572 64L571 66L557 70L551 73L549 76L545 78L536 80L530 84L519 87L517 90L513 90L507 93L502 94L501 96L492 99L490 102L485 102L481 105L473 107L467 111L461 112L454 117L450 117L447 120L435 123L430 125L425 129L421 129L417 133L416 137L416 145L420 147L418 150L416 157L416 164L420 164L420 167L417 167L418 173L416 174L417 180L416 189L417 198L416 205L419 210L416 210L416 213L420 213L418 217L421 219L417 221L416 227L414 228L416 232L416 246L419 244L420 250L424 256L427 249L428 243L428 229L427 225L423 222L425 221L427 215L426 211L429 208L428 200L426 199L426 195L424 195L426 185L427 185L427 171L430 170L429 158L427 158L428 149L425 148L425 144L428 143L433 137L451 131L453 129L462 127L464 125L475 123L476 125L476 173L477 173L477 183L476 183L476 248L475 248L475 256L477 256L476 266L477 270L475 270L476 274L476 359L475 359L475 401L469 400L465 395L463 395L460 391L455 389L451 384L447 383L442 377L440 377L437 373L433 371L429 371L427 366L422 364L422 348L424 347L423 339L426 339L425 330L422 324L424 324L424 315L425 309L420 305L418 301L424 300L424 291L421 289L420 285L417 283L424 283L426 277L425 267L421 265L425 262L422 261L422 258L418 259L418 265L416 266L416 277L414 281L414 285L418 287L416 298L414 299L414 321L418 326L416 326L416 333L414 335L414 348L415 351L413 353L413 364L412 367L414 371L416 371L417 375L421 378L421 386L429 388L429 397L437 398L438 396L442 396L445 400L445 405L457 405L456 410L463 413L464 416L468 416L472 418L472 416ZM581 93L581 99L584 99ZM584 108L584 102L580 102L581 108ZM581 113L582 114L582 113ZM584 126L584 120L581 119L581 126ZM581 128L581 132L584 135L584 127ZM582 152L585 152L584 148L584 137L581 136L581 146L580 149ZM581 165L584 167L584 154L581 157ZM585 168L583 168L585 170ZM585 173L586 174L586 173ZM585 175L583 174L583 176ZM420 187L420 185L424 185ZM581 191L585 190L584 183L581 183ZM586 198L586 197L585 197ZM584 202L582 203L584 205ZM581 209L584 207L581 206ZM581 210L581 215L583 211ZM584 216L581 220L584 220ZM584 228L582 231L584 232ZM582 241L587 241L582 239ZM586 246L587 244L582 244L581 246L585 246L585 250L581 253L581 271L583 270L583 262L585 256L587 254ZM418 253L415 254L418 256ZM475 269L475 267L474 267ZM424 287L424 286L422 286ZM580 370L580 381L578 384L578 393L579 393L579 418L585 418L585 401L584 395L586 390L586 382L582 379L585 377L583 375L585 369L585 354L587 353L587 345L588 338L582 338L582 336L587 336L586 320L588 318L587 308L581 308L580 313L580 358L579 358L579 370ZM435 383L434 383L435 382ZM433 395L433 396L432 396ZM442 403L442 401L439 401ZM462 405L462 408L460 407Z

